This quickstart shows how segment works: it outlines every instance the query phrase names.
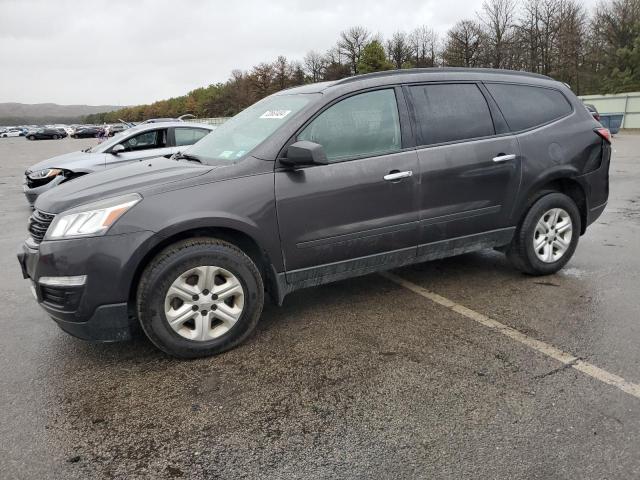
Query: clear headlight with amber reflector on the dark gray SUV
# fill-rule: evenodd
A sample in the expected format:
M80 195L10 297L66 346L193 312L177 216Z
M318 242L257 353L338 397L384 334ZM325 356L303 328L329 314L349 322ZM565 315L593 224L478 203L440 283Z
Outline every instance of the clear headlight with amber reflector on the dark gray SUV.
M88 203L56 215L47 239L104 235L131 207L142 200L137 193Z

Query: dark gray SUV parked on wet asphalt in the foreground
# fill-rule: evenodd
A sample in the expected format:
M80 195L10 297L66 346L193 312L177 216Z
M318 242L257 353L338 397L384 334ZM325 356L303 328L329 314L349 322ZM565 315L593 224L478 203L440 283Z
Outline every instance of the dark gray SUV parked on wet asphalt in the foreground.
M558 271L607 203L608 131L548 77L426 69L293 88L174 159L38 198L18 254L38 303L80 338L211 355L265 292L484 248Z

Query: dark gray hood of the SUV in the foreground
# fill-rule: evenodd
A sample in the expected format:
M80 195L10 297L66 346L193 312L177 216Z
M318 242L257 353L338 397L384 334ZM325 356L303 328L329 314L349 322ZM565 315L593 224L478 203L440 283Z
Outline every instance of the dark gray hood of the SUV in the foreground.
M155 189L160 185L204 175L212 168L164 157L135 162L58 185L40 195L35 208L43 212L60 213L78 205L127 193L144 196L149 188Z

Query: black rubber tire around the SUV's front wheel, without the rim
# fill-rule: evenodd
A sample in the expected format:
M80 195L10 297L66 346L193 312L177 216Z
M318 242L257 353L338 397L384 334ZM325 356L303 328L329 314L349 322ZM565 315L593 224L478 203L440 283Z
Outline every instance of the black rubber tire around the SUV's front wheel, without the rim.
M173 281L200 265L228 270L245 293L237 322L219 338L207 341L180 336L164 314L165 295ZM156 347L179 358L207 357L235 347L253 331L262 313L264 285L255 263L235 245L215 238L193 238L169 246L150 262L140 278L136 301L140 325Z

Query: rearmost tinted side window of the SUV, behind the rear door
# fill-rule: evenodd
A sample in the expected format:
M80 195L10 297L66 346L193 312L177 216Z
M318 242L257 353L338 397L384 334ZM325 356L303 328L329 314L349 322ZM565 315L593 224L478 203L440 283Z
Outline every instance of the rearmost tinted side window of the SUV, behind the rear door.
M487 83L512 131L538 127L571 113L571 104L558 90Z

